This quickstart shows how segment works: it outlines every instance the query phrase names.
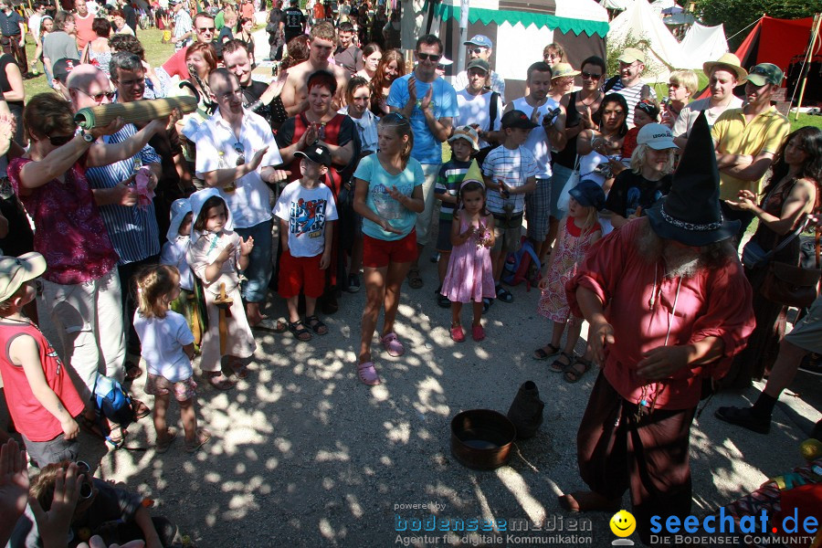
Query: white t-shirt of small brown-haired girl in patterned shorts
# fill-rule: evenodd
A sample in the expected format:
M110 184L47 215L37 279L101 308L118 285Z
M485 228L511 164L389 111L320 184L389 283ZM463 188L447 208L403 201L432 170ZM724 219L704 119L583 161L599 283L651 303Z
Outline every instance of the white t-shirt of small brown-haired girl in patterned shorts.
M178 383L194 373L183 347L194 342L194 335L183 315L165 312L165 318L143 318L134 312L134 331L140 337L142 357L150 374L159 374Z

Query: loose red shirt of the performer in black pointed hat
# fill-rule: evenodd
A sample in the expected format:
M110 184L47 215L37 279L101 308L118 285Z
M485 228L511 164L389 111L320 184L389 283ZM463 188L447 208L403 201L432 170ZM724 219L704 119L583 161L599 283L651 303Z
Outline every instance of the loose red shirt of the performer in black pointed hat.
M615 343L606 347L603 372L608 383L632 404L642 399L642 388L648 385L637 375L637 364L643 353L664 345L669 326L669 346L721 338L725 348L717 362L682 368L648 385L646 399L659 391L657 408L690 409L700 401L701 376L721 378L754 331L753 291L742 265L732 259L722 268L700 269L693 278L682 279L674 312L680 279L665 278L662 261L649 262L636 245L647 226L648 217L631 221L588 249L576 276L565 286L568 304L575 316L584 316L576 301L580 287L594 291L605 304Z

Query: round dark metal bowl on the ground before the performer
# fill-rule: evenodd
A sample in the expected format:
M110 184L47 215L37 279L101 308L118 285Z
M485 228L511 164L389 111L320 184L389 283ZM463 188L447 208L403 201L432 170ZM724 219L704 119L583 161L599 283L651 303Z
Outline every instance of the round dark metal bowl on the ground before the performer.
M470 409L451 419L451 454L469 469L505 465L516 437L508 417L490 409Z

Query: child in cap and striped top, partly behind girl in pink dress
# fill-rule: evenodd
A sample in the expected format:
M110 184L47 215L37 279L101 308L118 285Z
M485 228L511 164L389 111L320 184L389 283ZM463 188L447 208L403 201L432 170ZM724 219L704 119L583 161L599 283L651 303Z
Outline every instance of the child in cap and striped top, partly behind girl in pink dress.
M471 126L458 128L448 142L451 145L451 159L439 168L437 183L434 186L434 197L442 202L439 208L439 235L437 236L437 252L439 253L437 304L442 308L451 306L448 297L440 290L442 290L442 282L448 270L448 258L451 255L451 224L454 220L454 210L457 207L459 185L467 179L482 178L477 161L471 159L472 152L479 153L477 130Z

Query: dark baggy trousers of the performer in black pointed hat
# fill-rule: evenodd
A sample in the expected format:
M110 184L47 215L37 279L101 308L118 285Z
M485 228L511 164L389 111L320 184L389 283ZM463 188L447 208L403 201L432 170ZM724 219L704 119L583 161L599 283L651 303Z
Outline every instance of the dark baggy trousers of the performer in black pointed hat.
M684 520L690 515L690 423L696 409L657 409L636 418L637 405L625 401L599 374L576 434L577 463L588 487L606 499L631 491L637 531L650 540L650 519Z

